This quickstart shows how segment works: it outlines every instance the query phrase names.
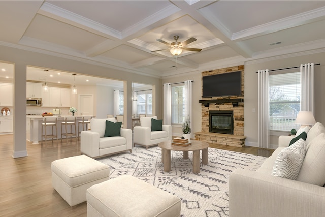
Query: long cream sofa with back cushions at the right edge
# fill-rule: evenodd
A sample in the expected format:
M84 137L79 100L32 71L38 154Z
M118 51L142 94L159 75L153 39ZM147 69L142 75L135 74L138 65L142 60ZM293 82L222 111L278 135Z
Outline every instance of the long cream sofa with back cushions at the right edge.
M279 147L256 171L236 169L229 177L229 216L324 216L325 127L307 133L306 154L297 180L271 175L281 150L294 137L280 136Z

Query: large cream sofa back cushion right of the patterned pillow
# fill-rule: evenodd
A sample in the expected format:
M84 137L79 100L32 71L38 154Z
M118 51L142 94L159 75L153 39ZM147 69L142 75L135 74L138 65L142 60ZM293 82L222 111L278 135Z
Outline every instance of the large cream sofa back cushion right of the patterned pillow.
M325 184L324 159L325 133L321 133L308 144L305 159L298 174L297 181L323 186Z

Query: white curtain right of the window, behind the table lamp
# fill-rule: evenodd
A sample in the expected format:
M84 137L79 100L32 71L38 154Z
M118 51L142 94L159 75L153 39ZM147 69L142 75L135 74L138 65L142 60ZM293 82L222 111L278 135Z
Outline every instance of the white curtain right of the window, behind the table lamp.
M315 116L314 102L314 63L301 64L301 102L300 111L311 111Z

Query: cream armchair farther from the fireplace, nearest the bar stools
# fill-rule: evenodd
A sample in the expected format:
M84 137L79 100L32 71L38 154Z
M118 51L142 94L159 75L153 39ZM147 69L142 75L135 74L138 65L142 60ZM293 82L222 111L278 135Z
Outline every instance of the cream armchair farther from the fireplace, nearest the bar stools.
M81 132L82 154L98 158L123 151L132 152L132 130L121 128L121 136L104 137L106 120L115 123L115 118L92 118L90 120L91 130Z

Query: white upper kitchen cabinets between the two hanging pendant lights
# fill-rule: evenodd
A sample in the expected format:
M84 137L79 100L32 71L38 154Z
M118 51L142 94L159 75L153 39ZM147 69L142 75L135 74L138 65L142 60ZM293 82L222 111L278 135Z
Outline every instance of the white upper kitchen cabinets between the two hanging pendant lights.
M70 89L51 87L51 106L70 107Z

